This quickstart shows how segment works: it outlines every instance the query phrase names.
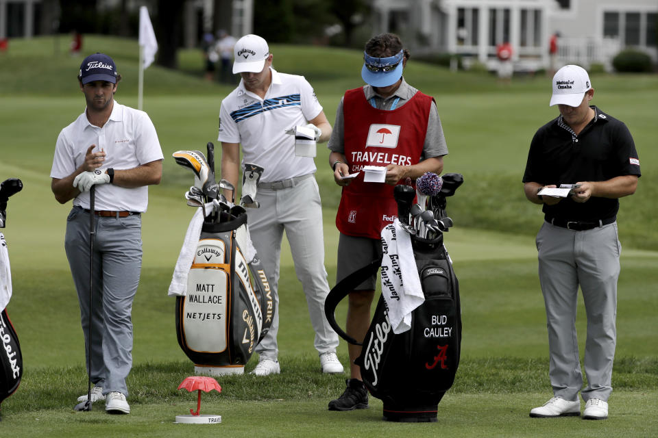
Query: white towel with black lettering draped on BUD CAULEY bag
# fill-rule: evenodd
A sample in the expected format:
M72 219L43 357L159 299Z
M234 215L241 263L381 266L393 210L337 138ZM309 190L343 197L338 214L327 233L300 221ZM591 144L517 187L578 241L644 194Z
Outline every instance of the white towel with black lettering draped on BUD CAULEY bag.
M389 308L393 333L411 329L411 312L425 302L411 237L395 219L382 229L382 295Z

